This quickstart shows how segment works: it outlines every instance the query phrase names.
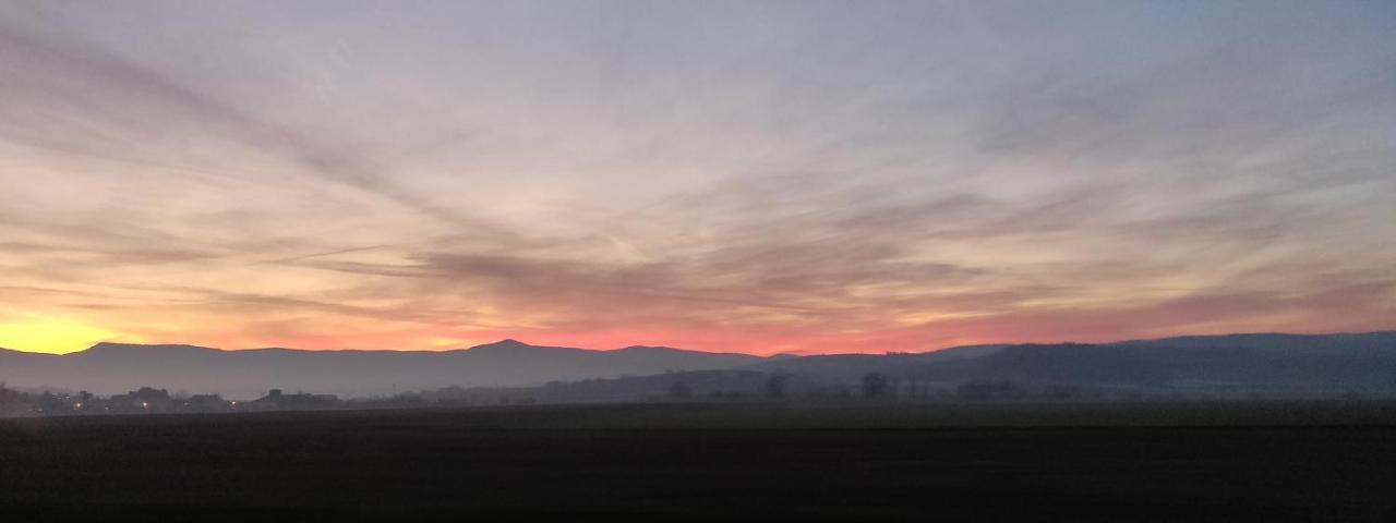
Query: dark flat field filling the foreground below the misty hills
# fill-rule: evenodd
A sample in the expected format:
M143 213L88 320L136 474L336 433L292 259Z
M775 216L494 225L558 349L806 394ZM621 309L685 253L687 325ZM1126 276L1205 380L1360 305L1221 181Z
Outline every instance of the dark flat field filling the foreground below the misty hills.
M0 520L1392 522L1393 423L1309 403L0 420Z

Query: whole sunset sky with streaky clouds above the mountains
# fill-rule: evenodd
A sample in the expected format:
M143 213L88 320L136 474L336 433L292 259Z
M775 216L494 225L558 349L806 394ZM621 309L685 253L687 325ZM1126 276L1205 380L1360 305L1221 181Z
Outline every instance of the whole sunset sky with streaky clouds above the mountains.
M0 0L0 347L1396 328L1385 1Z

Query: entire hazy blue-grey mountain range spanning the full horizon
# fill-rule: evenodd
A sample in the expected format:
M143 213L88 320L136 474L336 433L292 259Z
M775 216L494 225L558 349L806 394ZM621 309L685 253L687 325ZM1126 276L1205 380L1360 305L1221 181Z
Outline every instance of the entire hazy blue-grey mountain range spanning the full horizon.
M849 385L871 372L953 386L1016 382L1212 392L1396 395L1396 332L1182 336L1117 343L984 344L927 353L759 357L671 347L544 347L503 340L448 351L219 350L183 344L99 343L54 356L0 349L10 386L82 388L99 395L144 385L257 397L267 389L341 396L444 386L536 386L641 378L648 386L694 371L733 371L743 382L782 374L804 384ZM663 378L671 375L671 378ZM694 374L712 381L723 374ZM666 381L667 379L667 381ZM620 381L616 381L617 386ZM589 393L609 397L588 385Z

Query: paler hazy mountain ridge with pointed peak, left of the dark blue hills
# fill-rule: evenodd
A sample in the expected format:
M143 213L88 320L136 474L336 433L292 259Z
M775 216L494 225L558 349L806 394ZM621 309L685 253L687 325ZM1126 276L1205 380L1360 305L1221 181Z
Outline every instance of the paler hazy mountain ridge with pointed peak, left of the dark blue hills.
M99 395L154 385L172 392L216 392L235 399L258 397L274 388L376 396L451 385L533 385L733 368L761 360L748 354L670 347L546 347L512 339L445 351L219 350L98 343L61 356L0 350L0 381L10 386L82 388Z

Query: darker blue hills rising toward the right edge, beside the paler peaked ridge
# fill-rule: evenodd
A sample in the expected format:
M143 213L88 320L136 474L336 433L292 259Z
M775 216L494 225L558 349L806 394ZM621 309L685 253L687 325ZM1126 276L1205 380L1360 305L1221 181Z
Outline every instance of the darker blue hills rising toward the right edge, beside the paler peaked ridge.
M1396 332L1181 336L1115 343L997 344L920 354L833 354L759 368L850 381L1012 381L1174 391L1396 395Z

